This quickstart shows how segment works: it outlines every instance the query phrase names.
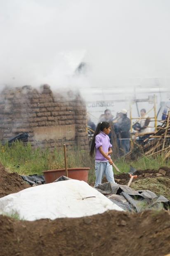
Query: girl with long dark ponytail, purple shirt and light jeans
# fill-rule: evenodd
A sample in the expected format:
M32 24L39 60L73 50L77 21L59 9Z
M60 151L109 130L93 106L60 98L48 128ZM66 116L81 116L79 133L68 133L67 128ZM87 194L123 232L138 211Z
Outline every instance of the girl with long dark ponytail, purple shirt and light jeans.
M113 176L113 161L110 157L111 143L108 134L110 133L110 124L108 122L100 122L97 125L90 148L90 156L93 157L95 150L95 175L96 180L94 186L102 184L102 178L105 174L108 182L115 183Z

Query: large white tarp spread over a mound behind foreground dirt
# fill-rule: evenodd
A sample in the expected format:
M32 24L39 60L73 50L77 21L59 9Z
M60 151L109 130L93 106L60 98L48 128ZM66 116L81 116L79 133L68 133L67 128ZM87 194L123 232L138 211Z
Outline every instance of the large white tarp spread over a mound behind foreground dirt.
M0 198L0 214L23 220L83 217L106 210L123 211L85 181L69 179L26 188Z

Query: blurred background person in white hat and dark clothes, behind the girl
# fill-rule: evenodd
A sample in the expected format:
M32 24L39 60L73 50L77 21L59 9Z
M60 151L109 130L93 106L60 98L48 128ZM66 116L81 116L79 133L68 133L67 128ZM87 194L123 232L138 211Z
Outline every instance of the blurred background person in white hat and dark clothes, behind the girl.
M118 112L120 114L120 120L118 122L118 130L121 139L120 145L124 154L130 151L130 119L127 117L127 110L122 109Z

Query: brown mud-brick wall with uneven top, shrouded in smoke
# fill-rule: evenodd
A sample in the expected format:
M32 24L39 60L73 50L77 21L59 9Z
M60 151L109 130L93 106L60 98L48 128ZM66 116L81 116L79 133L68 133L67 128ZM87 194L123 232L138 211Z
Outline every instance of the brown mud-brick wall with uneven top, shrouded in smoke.
M0 93L0 139L28 133L33 147L88 148L86 105L79 93L52 92L49 85L6 87Z

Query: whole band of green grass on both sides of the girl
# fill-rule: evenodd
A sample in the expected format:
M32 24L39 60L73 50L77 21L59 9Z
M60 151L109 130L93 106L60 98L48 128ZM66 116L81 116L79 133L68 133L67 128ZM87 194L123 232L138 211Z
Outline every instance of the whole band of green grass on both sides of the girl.
M114 157L112 156L114 161ZM88 150L74 150L66 148L66 161L68 168L90 167L88 182L95 180L94 159L90 158ZM48 148L41 150L40 147L33 149L28 142L24 144L20 141L12 142L12 145L0 145L0 162L9 172L17 171L21 175L43 174L42 171L52 169L64 169L64 148L54 147L53 152ZM121 172L129 172L130 165L135 169L158 169L161 166L169 166L170 160L165 162L161 156L157 158L142 156L136 160L125 160L123 157L114 161ZM116 170L113 168L115 174Z

